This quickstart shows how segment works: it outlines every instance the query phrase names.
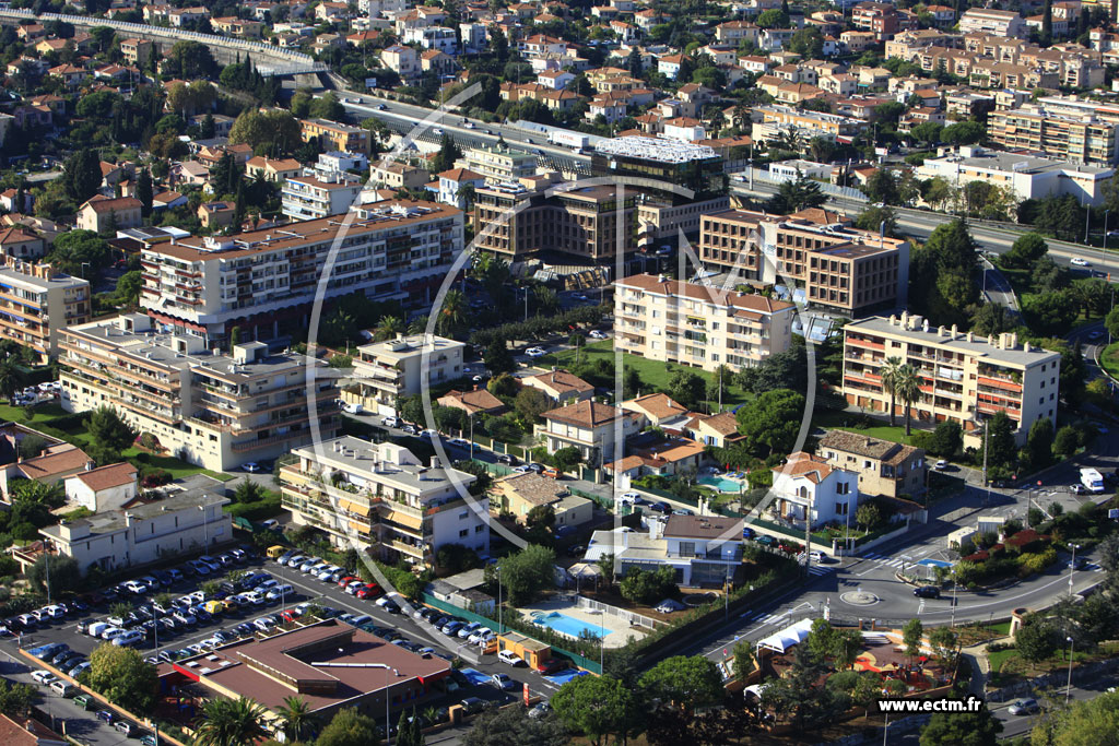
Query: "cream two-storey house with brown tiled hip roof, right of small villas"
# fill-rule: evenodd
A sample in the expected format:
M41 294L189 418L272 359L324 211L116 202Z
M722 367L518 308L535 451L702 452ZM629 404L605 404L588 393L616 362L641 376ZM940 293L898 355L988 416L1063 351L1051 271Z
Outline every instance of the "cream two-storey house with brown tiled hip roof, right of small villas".
M613 461L626 438L637 434L640 415L598 402L577 402L540 415L536 436L548 453L574 446L592 466Z

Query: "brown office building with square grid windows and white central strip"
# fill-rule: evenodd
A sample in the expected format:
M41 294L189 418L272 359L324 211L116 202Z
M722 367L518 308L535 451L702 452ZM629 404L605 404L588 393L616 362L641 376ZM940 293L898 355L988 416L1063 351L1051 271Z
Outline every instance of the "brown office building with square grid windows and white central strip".
M904 305L909 242L850 228L834 214L820 219L745 210L705 215L699 258L708 270L781 285L809 305L848 317Z

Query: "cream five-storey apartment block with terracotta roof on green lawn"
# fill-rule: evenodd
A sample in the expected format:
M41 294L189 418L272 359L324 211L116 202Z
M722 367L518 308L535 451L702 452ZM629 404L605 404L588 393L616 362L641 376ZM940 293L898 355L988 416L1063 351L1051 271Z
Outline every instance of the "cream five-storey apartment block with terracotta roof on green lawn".
M619 349L704 370L750 368L788 350L794 314L792 303L664 275L614 283Z

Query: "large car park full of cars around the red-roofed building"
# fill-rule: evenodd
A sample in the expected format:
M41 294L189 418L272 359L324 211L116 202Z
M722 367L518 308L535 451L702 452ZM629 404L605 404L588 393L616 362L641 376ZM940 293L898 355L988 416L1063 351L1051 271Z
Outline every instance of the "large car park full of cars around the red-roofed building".
M207 644L205 641L217 642L215 635L218 632L227 635L229 640L235 640L242 634L253 634L255 631L253 629L254 622L262 617L276 617L285 611L298 614L297 610L305 607L301 605L314 604L327 610L328 615L337 616L342 621L349 618L351 622L357 622L361 629L378 634L394 644L411 649L413 652L440 655L448 660L455 657L462 659L464 665L461 671L452 673L452 678L448 681L448 691L445 693L434 691L432 697L423 702L423 707L433 705L445 708L467 698L481 700L483 703L513 701L519 699L525 683L528 684L533 695L543 696L545 699L558 689L557 682L549 681L548 678L525 668L523 664L513 667L498 661L497 655L483 655L481 648L471 644L469 638L448 635L436 631L432 622L445 616L444 614L429 611L426 616L430 618L416 618L416 612L425 607L412 606L402 597L395 597L399 611L393 613L385 606L377 604L377 598L386 604L387 599L383 595L370 593L367 598L358 598L346 593L346 589L340 587L337 582L316 579L311 574L304 574L298 568L281 566L275 560L264 559L251 551L239 561L232 557L226 557L226 564L218 561L217 557L213 559L218 565L218 569L206 575L187 575L189 563L185 563L177 566L187 570L184 573L184 577L181 579L172 578L169 585L158 583L158 587L152 589L135 585L135 579L133 579L122 583L117 587L119 593L115 598L112 597L112 593L107 594L110 597L86 596L86 601L91 605L84 612L77 608L67 610L62 618L51 618L48 613L44 613L45 621L35 629L28 630L19 630L19 624L13 622L11 634L6 635L0 641L0 649L6 649L3 650L7 653L6 657L16 661L19 658L17 652L19 648L25 650L40 649L54 643L56 646L49 650L45 660L51 661L60 658L58 664L66 669L85 661L98 645L106 642L103 636L94 638L81 630L88 630L93 626L95 631L104 635L110 627L120 627L139 631L138 635L133 635L139 636L139 639L132 643L132 646L145 658L153 662L157 660L167 661L173 660L178 655L185 657L204 651L203 645ZM206 602L200 599L203 595L200 587L208 580L227 582L227 576L232 570L243 570L246 574L256 575L253 584L257 588L266 586L265 589L270 587L270 589L275 591L283 586L284 589L280 593L273 593L272 598L267 597L265 591L261 591L258 594L261 603L250 602L238 605L235 610L229 608L216 615L208 615L204 605ZM142 572L137 574L137 578L144 576L159 579L157 574L149 575ZM131 584L141 593L125 589L123 587L125 584ZM236 591L238 594L256 593L248 589ZM103 591L102 594L104 593ZM167 614L158 612L154 604L157 598L163 594L179 601L179 615L186 617L189 613L190 616L195 617L194 623L180 623L176 620L176 610L171 607L166 607ZM191 601L197 603L188 606L187 597L190 594L195 594L195 598ZM110 622L109 617L113 615L114 604L121 603L131 604L137 618L113 618ZM198 605L203 605L203 607L199 608ZM141 607L154 612L153 616L157 621L152 623L153 620L147 618L147 614L140 612ZM216 605L211 605L210 608L216 608ZM172 622L173 629L158 622L159 618L167 616L176 620ZM206 618L207 616L208 618ZM143 631L144 623L148 623L148 631ZM242 627L239 633L237 632L238 626ZM271 627L273 624L265 623L265 626ZM458 631L461 626L452 625L452 629ZM113 633L110 634L112 636ZM124 634L124 639L129 640L128 633ZM59 643L64 646L57 646ZM178 653L177 651L186 652ZM507 679L504 682L495 683L492 679L496 673L507 674ZM62 698L58 692L49 689L49 681L39 684L38 688L43 692L44 701L57 701ZM68 700L65 705L66 708L74 709L73 700ZM86 720L82 726L83 729L96 730L97 724L94 720L96 712L91 710L83 715ZM105 724L100 725L104 727ZM122 734L115 735L121 736ZM132 738L135 738L135 735L133 734Z

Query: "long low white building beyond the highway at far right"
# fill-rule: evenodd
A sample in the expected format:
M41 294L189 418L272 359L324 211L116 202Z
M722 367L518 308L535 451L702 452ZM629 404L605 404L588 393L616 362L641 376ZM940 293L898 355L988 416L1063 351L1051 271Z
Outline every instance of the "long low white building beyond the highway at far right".
M1103 188L1115 177L1110 167L982 148L960 148L957 154L929 159L916 172L923 179L941 177L951 185L986 181L1009 189L1019 200L1071 195L1079 204L1093 207L1103 202Z

